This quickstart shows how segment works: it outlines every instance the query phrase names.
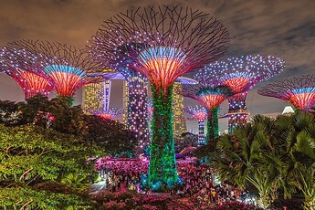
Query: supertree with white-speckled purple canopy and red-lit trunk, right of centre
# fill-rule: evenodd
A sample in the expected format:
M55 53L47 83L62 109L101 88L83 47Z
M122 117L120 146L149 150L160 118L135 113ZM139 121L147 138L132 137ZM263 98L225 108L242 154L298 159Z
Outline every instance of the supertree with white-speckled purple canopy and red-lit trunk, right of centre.
M221 81L221 85L226 85L237 93L228 99L228 132L232 134L237 125L247 123L246 98L249 89L257 82L277 75L283 68L284 60L280 58L242 56L210 64L196 76L202 76L205 80L215 77Z

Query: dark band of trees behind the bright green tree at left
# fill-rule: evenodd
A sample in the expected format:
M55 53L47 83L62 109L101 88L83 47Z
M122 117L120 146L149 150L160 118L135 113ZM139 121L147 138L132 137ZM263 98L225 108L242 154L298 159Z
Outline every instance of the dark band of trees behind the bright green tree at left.
M0 101L0 122L8 125L34 124L62 133L83 137L89 143L97 143L103 152L111 155L132 153L138 140L131 131L117 121L103 120L85 115L80 106L70 107L68 100L37 95L26 102Z

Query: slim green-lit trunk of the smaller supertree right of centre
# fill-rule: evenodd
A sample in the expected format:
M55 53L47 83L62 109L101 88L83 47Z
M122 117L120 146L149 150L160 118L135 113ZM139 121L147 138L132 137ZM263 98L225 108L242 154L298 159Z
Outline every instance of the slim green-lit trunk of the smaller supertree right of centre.
M206 141L210 142L219 137L218 107L207 110Z

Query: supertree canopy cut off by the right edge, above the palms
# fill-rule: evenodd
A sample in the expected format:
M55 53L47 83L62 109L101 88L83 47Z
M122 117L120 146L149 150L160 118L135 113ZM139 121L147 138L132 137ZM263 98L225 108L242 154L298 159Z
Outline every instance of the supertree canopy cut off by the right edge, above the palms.
M257 93L286 100L297 109L309 112L315 103L315 75L305 75L273 82L258 89Z

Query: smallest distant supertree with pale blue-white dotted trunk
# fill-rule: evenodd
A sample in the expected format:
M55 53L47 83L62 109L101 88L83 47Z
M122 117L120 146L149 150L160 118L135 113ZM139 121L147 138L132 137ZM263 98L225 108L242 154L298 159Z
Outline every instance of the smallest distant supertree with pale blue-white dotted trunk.
M207 112L204 107L185 107L184 111L190 115L193 115L194 120L198 121L198 145L205 144L205 119L207 117Z

